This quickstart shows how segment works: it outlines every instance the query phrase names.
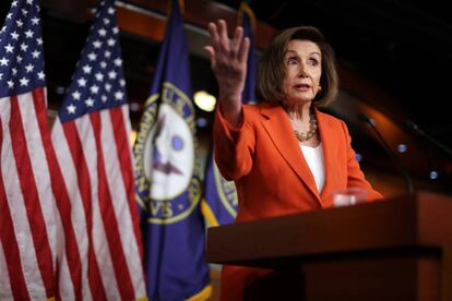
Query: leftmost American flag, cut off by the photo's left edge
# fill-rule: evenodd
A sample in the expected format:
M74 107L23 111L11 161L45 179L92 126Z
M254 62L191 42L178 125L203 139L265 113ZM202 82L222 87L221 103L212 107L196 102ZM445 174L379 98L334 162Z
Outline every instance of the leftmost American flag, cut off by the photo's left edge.
M55 296L56 209L39 8L12 1L0 29L0 300Z

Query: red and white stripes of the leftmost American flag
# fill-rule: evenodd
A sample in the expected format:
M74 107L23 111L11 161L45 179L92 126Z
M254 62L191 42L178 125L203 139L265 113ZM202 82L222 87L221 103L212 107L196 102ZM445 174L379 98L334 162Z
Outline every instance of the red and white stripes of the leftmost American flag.
M0 299L55 296L56 207L44 88L0 99Z

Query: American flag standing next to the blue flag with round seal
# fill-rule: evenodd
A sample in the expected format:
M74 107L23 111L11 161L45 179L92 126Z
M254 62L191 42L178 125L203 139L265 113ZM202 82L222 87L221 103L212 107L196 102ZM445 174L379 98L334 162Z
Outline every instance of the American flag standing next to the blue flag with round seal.
M72 208L73 228L64 226L64 233L73 233L66 238L74 241L82 264L78 270L67 248L59 269L62 300L146 296L116 24L114 0L102 1L52 128Z

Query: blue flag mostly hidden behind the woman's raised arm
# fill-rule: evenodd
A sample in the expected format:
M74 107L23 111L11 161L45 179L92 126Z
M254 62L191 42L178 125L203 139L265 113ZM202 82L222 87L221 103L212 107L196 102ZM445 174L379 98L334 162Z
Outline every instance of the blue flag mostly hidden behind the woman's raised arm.
M250 49L247 62L247 77L241 99L243 104L254 103L255 86L255 50L253 37L253 22L255 20L251 9L242 2L239 15L243 34L250 39ZM213 152L212 152L213 154ZM234 221L237 215L237 191L233 181L226 181L218 171L213 157L209 159L205 173L203 214L212 226L227 225Z

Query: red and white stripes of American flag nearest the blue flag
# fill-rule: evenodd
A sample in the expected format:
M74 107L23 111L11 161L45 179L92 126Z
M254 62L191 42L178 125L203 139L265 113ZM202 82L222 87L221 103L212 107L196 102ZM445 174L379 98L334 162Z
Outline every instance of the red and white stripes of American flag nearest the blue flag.
M84 300L146 296L130 131L128 106L63 123L57 119L53 124L51 137L69 192L69 227L81 257ZM61 262L60 279L76 278L69 263ZM62 285L61 297L74 296L76 286Z

